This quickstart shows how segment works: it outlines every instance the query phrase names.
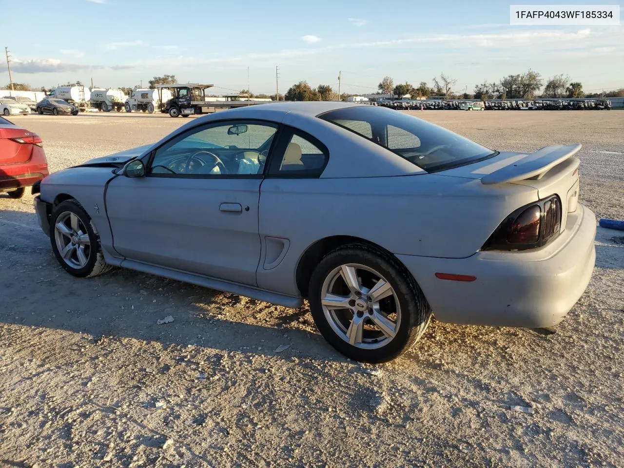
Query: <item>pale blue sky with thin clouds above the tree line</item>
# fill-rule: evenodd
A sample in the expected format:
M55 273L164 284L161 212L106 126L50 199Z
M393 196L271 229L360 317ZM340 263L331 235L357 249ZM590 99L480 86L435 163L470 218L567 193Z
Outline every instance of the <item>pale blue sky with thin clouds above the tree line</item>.
M620 26L510 26L509 4L470 0L49 0L3 2L2 39L14 82L52 87L144 85L173 74L213 92L275 94L300 80L341 92L431 84L454 90L532 68L567 74L587 92L624 87ZM622 1L532 1L620 4ZM51 7L51 5L53 5ZM19 18L23 17L24 21ZM36 26L36 27L34 27ZM2 67L0 85L9 82Z

